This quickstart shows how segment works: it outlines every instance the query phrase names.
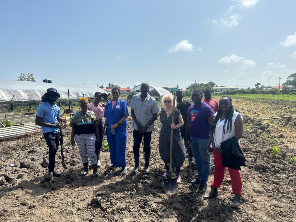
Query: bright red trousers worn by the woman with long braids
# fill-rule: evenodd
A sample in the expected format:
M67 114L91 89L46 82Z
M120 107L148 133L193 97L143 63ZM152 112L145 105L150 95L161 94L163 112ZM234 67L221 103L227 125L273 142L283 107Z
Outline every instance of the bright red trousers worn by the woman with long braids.
M219 188L219 186L221 186L223 182L226 167L222 166L222 155L217 154L215 150L213 150L213 155L214 155L214 163L215 163L215 173L214 173L214 180L212 181L211 185L215 188ZM242 178L240 176L239 170L228 168L228 172L231 179L232 192L234 194L241 194Z

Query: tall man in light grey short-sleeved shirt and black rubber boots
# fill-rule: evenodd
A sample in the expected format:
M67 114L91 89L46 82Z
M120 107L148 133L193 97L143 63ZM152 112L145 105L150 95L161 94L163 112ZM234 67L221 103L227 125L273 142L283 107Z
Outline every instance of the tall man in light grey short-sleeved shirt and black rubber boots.
M140 159L140 144L144 136L144 173L149 173L150 160L150 142L151 133L154 130L154 121L157 119L159 111L156 100L148 94L149 84L143 82L140 87L140 94L134 95L131 99L129 107L131 107L131 117L133 118L133 156L135 159L135 167L131 173L138 172Z

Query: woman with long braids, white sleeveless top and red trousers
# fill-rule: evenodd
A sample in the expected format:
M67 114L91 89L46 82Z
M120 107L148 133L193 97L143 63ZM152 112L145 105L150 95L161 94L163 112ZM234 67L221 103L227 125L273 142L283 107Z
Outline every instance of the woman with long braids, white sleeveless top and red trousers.
M219 110L215 113L215 119L210 131L210 140L213 146L213 155L215 163L214 180L211 183L211 191L208 195L203 196L204 199L212 199L218 196L218 188L221 186L225 175L225 167L222 166L222 149L221 142L235 137L240 144L240 138L243 133L242 115L233 110L231 98L222 96L219 100ZM239 145L240 146L240 145ZM231 207L241 205L242 178L239 170L228 168L231 178L232 191L234 200L230 203Z

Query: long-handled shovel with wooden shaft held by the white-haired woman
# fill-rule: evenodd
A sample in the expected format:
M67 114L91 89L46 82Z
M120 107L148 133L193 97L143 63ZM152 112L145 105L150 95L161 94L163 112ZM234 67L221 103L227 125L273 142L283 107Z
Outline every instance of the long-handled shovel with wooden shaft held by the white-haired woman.
M173 99L172 123L174 123L175 100L176 100L176 93L174 93L174 99ZM163 181L166 194L176 194L177 193L177 179L172 179L173 132L174 132L174 129L171 129L171 131L170 131L170 166L169 166L170 172L169 172L169 178L165 178Z

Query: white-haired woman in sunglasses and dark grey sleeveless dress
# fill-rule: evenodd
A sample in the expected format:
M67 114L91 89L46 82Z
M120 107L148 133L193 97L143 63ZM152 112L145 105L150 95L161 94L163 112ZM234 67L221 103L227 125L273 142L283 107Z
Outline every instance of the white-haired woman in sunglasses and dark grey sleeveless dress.
M180 127L184 122L180 111L175 108L173 110L173 96L172 94L166 94L162 99L163 108L157 113L160 116L160 122L162 123L159 136L159 153L161 159L165 162L166 172L163 174L165 178L169 175L169 163L170 163L170 133L173 131L173 160L172 167L176 167L177 183L181 183L180 169L185 160L184 145L181 138ZM174 122L172 123L172 113L174 114Z

